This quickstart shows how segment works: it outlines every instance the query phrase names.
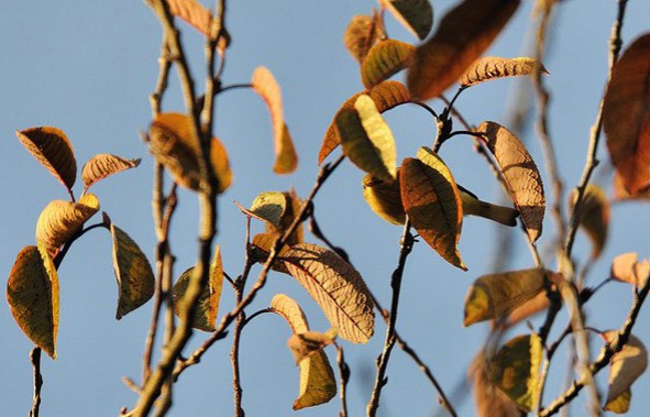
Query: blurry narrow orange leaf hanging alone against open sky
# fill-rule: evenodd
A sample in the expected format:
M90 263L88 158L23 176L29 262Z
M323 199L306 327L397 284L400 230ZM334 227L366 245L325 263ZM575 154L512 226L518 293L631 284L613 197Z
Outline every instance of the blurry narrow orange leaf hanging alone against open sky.
M266 67L257 67L251 78L251 86L268 107L273 123L273 138L275 144L275 164L273 171L276 174L290 174L298 166L298 155L294 149L289 130L285 123L282 90L273 74Z

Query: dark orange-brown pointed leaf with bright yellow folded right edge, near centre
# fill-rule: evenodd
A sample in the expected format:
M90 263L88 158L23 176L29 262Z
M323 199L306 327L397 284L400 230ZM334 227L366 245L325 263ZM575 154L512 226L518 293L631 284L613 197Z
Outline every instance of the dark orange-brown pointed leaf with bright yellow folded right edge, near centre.
M458 250L463 207L458 186L442 160L428 147L401 163L401 201L414 228L447 262L466 271Z

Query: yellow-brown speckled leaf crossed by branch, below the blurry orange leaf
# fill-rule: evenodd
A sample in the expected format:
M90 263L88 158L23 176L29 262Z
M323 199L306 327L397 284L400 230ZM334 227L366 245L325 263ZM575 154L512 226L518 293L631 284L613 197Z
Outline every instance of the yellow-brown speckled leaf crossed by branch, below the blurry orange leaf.
M189 267L180 275L176 284L174 284L174 312L176 315L178 315L178 307L187 292L194 272L195 267ZM217 245L212 262L210 262L208 285L206 285L197 301L191 327L203 331L214 331L214 322L217 320L217 314L219 312L219 300L221 299L222 286L223 264L221 262L221 246Z

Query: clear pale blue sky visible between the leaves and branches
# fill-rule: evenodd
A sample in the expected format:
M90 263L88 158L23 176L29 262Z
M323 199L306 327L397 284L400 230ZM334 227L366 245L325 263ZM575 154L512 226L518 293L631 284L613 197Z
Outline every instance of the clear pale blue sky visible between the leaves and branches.
M213 4L207 1L208 7ZM436 21L455 2L432 1ZM529 39L532 1L524 1L515 19L489 51L491 55L518 56ZM234 90L217 100L216 132L230 153L234 184L219 200L220 234L224 266L236 276L243 264L245 218L233 205L249 206L265 190L296 187L305 196L318 172L317 154L322 135L339 106L363 89L357 64L342 44L345 26L354 14L370 13L374 1L231 1L228 29L232 35L225 85L247 83L253 69L267 66L283 86L285 116L294 136L300 165L290 176L272 175L273 147L269 118L263 101L251 91ZM607 69L607 43L616 15L615 1L573 0L562 2L544 64L551 76L550 130L559 155L559 167L566 189L575 186L582 173L598 100ZM650 3L631 0L623 31L628 44L650 31ZM393 37L416 40L386 17ZM191 69L202 80L201 37L180 23ZM71 140L79 168L98 153L142 157L136 169L107 179L95 188L114 223L129 232L153 260L155 237L151 220L153 162L137 131L151 121L148 95L157 77L161 28L142 1L80 2L62 0L0 0L0 276L5 279L19 251L34 243L34 227L41 210L52 199L66 199L65 189L22 149L15 130L36 125L63 129ZM175 74L163 102L166 111L183 111ZM514 86L526 81L499 80L466 91L458 108L472 123L494 120L507 124L507 97ZM440 110L440 101L431 106ZM430 145L434 123L417 107L400 107L386 114L397 139L398 160ZM535 130L522 139L538 165L543 161ZM604 147L599 155L607 156ZM442 157L456 179L488 200L498 200L499 188L483 160L462 136L445 144ZM605 165L605 164L604 164ZM542 168L543 169L543 168ZM596 175L609 189L610 178ZM385 223L365 205L361 193L363 174L345 162L326 184L316 199L321 228L334 244L344 248L355 267L385 306L389 305L389 276L397 263L400 228ZM547 196L552 199L547 179ZM80 188L77 186L77 194ZM564 197L565 200L565 197ZM609 242L596 262L588 284L608 276L613 256L636 251L650 255L650 207L647 202L617 204L613 208ZM99 220L96 219L96 221ZM91 221L92 222L92 221ZM180 193L173 223L172 250L179 274L195 261L198 207L192 194ZM539 248L547 266L555 267L552 243L554 222L547 210L544 234ZM255 230L262 230L255 224ZM470 393L462 381L472 358L487 334L487 325L462 327L463 301L471 283L493 272L499 253L497 227L482 219L463 223L460 250L470 271L461 272L440 259L423 242L408 260L399 310L398 330L431 366L452 396L463 416L474 414ZM510 267L533 266L524 234L508 230L515 241ZM316 242L311 235L308 241ZM316 242L318 243L318 242ZM579 235L575 260L583 265L590 244ZM255 270L255 271L258 271ZM122 376L135 381L141 375L141 356L151 307L114 320L117 285L111 266L110 235L96 230L76 243L59 268L60 328L58 359L43 359L43 416L114 416L122 406L131 407L136 396ZM4 281L3 281L4 283ZM274 273L267 287L250 311L264 308L276 293L300 301L312 329L324 331L329 323L306 292L290 277ZM631 303L629 287L610 284L586 308L588 325L598 329L618 328ZM221 312L233 306L233 295L224 286ZM635 333L650 343L648 307L641 311ZM533 319L539 326L543 318ZM563 310L554 327L554 339L566 322ZM377 320L376 336L367 345L343 342L352 370L349 406L352 416L365 413L374 361L383 345L385 327ZM526 332L525 326L511 334ZM22 334L0 303L0 414L25 415L31 406L31 342ZM242 338L243 407L250 416L290 415L298 394L298 369L286 348L290 334L279 317L265 315L253 321ZM206 338L197 332L190 348ZM593 338L597 352L601 341ZM176 384L173 416L218 416L232 414L231 369L228 360L230 339L216 344L200 365L186 371ZM186 350L189 352L189 350ZM566 369L565 351L552 366L553 382L547 389L547 403L560 391ZM334 350L328 348L335 365ZM396 349L388 366L389 383L382 396L382 416L426 416L440 410L437 393L410 359ZM604 395L607 372L598 386ZM642 416L650 407L650 377L635 384L630 415ZM574 402L576 415L584 413L585 399ZM338 399L302 416L332 416Z

